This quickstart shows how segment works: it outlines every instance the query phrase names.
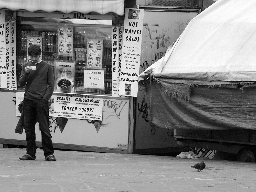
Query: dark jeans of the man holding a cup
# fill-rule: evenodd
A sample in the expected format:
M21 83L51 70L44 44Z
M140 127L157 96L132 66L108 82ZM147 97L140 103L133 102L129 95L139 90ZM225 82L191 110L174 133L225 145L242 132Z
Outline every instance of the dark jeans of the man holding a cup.
M27 154L33 158L36 157L36 119L42 136L42 146L45 157L53 155L54 150L51 141L51 132L49 129L49 107L48 103L43 101L32 101L24 99L23 104L25 133L27 140Z

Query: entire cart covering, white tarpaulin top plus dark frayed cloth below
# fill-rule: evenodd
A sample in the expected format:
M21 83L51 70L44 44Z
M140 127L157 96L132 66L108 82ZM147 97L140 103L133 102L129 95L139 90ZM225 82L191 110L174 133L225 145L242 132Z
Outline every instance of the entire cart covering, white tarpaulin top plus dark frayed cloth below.
M255 52L255 0L218 0L202 11L139 77L150 125L255 130Z

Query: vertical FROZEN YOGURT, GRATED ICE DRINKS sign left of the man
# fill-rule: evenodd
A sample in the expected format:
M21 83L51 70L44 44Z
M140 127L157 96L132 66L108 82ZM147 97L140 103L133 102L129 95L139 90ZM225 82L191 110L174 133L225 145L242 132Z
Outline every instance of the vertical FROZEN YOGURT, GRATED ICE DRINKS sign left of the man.
M5 23L7 90L17 90L16 80L16 22Z

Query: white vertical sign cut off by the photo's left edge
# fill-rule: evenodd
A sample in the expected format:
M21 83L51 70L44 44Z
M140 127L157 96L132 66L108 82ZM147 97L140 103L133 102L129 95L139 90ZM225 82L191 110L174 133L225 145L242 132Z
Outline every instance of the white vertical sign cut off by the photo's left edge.
M5 16L3 9L0 10L0 88L7 88Z

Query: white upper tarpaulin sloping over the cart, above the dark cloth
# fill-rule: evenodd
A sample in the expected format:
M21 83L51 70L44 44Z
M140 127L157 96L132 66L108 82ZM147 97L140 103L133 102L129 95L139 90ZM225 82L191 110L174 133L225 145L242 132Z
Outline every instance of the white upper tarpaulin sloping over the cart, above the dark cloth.
M256 81L256 1L218 0L149 70L160 78Z

